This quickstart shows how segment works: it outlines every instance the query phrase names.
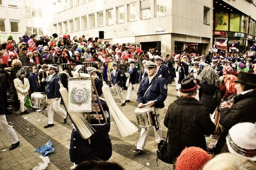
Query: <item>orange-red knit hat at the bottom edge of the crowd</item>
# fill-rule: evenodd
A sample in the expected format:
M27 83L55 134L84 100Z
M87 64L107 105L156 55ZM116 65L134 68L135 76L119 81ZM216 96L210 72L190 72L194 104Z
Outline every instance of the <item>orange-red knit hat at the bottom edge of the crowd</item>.
M177 158L176 170L198 170L211 159L211 155L199 147L185 148Z

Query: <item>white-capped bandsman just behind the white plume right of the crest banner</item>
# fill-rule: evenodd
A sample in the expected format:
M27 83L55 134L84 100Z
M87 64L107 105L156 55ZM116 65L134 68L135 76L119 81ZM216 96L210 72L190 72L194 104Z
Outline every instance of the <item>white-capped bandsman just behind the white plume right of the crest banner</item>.
M112 87L117 87L117 88L122 88L123 86L123 80L121 77L122 71L120 69L117 69L117 64L116 62L111 62L111 66L113 68L112 72L111 72L111 85ZM119 93L119 97L121 100L121 106L125 106L125 96L124 93L121 92Z

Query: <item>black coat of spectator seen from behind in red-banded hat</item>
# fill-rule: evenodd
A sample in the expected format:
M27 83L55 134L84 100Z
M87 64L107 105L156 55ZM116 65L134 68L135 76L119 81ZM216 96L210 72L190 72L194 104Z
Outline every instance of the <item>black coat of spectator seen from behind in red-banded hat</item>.
M207 108L193 97L179 97L170 104L164 125L168 127L168 151L173 160L185 147L200 147L206 151L204 134L214 132Z

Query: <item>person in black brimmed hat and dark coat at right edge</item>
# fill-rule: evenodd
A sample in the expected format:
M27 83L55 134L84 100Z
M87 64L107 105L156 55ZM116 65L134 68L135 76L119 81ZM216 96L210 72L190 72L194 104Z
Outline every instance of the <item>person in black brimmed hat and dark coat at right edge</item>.
M220 124L224 128L214 151L218 154L225 146L225 138L229 129L240 122L256 122L256 75L240 72L238 74L237 95L231 101L223 102L220 108Z

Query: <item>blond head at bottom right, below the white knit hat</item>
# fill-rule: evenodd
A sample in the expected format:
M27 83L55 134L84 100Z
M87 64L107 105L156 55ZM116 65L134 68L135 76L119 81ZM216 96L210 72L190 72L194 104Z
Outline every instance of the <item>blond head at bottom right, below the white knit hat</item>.
M244 169L253 170L256 163L248 158L241 158L232 153L221 153L205 164L203 170L226 170L226 169Z

